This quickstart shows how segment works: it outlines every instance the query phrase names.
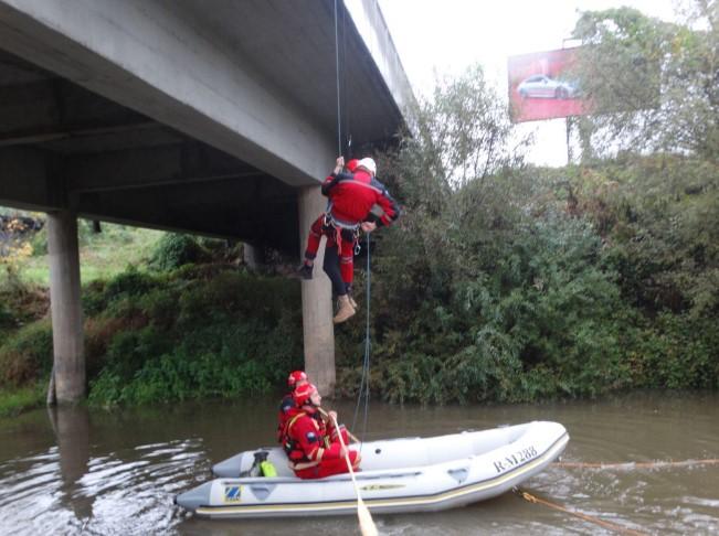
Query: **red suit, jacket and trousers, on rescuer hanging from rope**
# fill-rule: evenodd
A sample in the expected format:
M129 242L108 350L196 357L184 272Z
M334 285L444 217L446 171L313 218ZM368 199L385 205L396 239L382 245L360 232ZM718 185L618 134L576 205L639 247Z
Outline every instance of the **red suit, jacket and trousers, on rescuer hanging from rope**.
M336 281L338 278L332 277L327 264L325 271L332 280L335 293L341 296L347 293L346 289L355 277L353 255L360 224L369 221L378 226L389 226L399 217L400 210L387 187L363 169L358 169L355 174L332 173L323 184L323 194L329 197L329 206L309 228L305 258L317 256L323 235L327 237L327 249L337 247L343 285ZM371 212L374 205L382 210L381 216Z

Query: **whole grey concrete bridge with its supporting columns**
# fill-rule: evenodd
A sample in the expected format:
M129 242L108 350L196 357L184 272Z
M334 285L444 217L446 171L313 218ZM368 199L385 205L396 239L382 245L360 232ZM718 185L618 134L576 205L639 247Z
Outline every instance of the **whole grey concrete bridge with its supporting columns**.
M0 204L47 213L60 403L85 389L76 218L298 253L338 83L356 154L389 142L412 93L377 0L0 0ZM331 393L329 281L302 285Z

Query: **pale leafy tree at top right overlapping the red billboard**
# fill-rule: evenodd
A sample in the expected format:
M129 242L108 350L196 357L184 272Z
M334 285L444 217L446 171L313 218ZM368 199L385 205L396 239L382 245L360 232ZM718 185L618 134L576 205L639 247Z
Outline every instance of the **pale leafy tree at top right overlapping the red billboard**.
M573 36L577 75L596 114L593 148L719 156L719 2L695 0L674 24L630 8L589 11Z

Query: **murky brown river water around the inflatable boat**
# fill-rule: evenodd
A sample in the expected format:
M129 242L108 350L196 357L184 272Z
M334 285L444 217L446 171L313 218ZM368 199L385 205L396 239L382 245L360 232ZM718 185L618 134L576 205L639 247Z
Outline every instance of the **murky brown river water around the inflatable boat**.
M357 519L209 521L173 496L210 479L230 455L271 446L277 400L182 404L108 412L36 410L0 420L0 533L313 535L358 534ZM338 403L351 422L353 404ZM361 419L360 419L361 420ZM565 463L524 487L647 534L719 534L719 395L635 393L543 405L410 407L373 403L368 440L452 433L530 420L563 424ZM356 431L362 435L362 425ZM643 462L689 461L656 467ZM610 534L588 521L507 493L437 514L374 516L387 535Z

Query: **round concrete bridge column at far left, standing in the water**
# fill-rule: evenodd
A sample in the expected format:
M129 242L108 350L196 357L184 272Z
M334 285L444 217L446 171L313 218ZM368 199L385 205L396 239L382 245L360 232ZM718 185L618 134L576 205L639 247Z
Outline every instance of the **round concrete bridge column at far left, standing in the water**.
M55 395L59 404L74 404L85 396L85 353L77 219L73 213L47 214L47 250Z

